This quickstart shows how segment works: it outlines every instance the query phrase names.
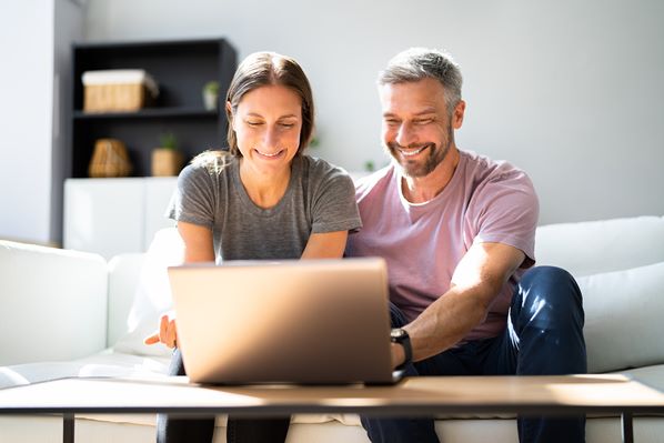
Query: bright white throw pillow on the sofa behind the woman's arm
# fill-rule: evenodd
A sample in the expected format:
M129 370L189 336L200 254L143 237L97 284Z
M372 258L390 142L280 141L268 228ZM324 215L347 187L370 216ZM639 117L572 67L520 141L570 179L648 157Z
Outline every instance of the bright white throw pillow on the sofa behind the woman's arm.
M171 354L171 350L163 344L147 345L143 340L158 330L161 315L172 309L167 269L181 264L183 258L184 245L175 228L165 228L154 234L129 312L129 332L113 346L117 352L155 356Z

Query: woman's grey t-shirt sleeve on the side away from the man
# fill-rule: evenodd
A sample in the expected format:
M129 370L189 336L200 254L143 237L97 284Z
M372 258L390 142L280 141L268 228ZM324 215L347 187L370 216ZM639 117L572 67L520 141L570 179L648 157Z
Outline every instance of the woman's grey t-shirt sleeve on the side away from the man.
M165 215L175 221L212 229L214 224L213 178L204 167L188 165L178 177Z

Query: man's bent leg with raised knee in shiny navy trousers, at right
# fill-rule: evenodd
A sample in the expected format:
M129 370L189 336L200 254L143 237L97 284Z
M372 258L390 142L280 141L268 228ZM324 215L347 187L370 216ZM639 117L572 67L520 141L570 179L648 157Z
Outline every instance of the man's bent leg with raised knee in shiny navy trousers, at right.
M485 373L585 373L583 322L582 294L572 275L553 266L527 271L514 292L505 334L496 339ZM585 441L585 416L519 419L517 426L522 443Z

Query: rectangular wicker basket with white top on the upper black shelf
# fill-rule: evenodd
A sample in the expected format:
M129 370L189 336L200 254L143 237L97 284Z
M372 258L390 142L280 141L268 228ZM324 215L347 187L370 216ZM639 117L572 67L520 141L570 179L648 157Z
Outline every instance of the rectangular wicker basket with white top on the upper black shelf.
M138 111L159 94L157 83L142 70L88 71L83 73L83 111Z

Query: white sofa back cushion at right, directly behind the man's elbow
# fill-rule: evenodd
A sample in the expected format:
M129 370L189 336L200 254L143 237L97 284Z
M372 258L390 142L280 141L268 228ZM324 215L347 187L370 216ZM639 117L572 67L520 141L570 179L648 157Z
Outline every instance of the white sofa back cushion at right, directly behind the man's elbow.
M574 276L664 262L664 218L634 217L537 228L537 264L552 264Z

